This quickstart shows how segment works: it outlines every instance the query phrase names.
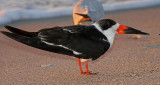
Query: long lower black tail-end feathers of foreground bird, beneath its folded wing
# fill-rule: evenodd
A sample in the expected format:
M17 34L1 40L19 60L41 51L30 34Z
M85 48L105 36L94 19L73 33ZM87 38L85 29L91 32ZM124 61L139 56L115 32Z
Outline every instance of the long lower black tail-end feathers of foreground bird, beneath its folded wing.
M73 56L73 52L70 50L66 50L65 48L61 48L59 46L50 46L41 41L40 38L38 37L26 37L22 35L18 35L15 33L10 33L10 32L5 32L5 31L0 31L0 33L8 36L9 38L12 38L18 42L21 42L23 44L29 45L31 47L35 47L38 49L50 51L50 52L55 52L55 53L60 53L60 54L66 54L66 55L71 55Z

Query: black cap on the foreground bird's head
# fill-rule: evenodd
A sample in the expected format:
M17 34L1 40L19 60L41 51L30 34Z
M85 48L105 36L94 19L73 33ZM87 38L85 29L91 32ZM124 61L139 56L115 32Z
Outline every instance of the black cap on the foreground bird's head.
M112 19L102 19L98 21L98 24L102 28L102 30L107 30L108 28L114 26L116 22Z

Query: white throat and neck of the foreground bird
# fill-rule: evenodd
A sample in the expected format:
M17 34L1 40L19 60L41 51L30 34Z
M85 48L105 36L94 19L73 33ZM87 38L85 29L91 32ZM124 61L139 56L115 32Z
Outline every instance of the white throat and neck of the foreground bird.
M102 30L102 28L97 23L94 23L93 25L96 27L97 30L99 30L102 34L104 34L106 36L106 38L108 39L108 41L110 43L110 47L111 47L113 44L113 41L114 41L114 36L117 33L117 29L120 24L117 23L106 30Z

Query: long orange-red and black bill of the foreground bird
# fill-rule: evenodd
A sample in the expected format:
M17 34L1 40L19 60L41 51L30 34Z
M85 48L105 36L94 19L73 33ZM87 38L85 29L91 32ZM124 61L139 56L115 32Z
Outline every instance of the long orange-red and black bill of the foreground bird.
M142 34L142 35L149 35L149 33L142 32L132 27L120 25L117 29L118 34Z

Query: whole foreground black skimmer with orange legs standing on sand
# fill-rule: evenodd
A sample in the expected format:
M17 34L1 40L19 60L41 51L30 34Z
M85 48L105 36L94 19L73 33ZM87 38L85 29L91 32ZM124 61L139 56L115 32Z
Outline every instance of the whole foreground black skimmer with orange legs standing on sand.
M10 32L1 33L16 41L42 50L75 56L81 74L87 75L93 75L88 70L87 59L96 60L111 48L115 34L149 35L111 19L99 20L92 25L53 27L38 32L27 32L7 25L4 27ZM82 71L81 62L85 62L86 72Z

